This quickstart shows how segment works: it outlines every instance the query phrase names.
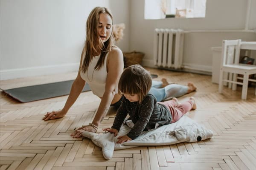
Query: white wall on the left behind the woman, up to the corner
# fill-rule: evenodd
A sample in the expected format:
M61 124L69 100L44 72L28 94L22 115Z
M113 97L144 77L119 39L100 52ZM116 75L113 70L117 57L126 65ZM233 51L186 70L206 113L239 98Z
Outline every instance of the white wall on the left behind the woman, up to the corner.
M128 51L128 0L0 0L0 79L77 71L96 6L109 8L113 23L125 23L118 45Z

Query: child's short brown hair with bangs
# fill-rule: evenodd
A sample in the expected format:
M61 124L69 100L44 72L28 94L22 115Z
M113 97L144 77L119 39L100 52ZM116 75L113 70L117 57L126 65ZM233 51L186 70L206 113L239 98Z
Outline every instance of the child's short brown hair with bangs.
M148 71L140 65L125 68L118 83L119 94L137 94L141 104L152 85Z

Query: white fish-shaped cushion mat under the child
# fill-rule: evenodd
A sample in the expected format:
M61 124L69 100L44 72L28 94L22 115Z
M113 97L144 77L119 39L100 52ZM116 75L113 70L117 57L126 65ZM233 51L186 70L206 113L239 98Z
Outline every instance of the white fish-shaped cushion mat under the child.
M122 125L118 135L113 133L97 134L84 131L82 135L93 141L99 147L102 147L102 153L105 159L111 159L114 150L127 149L137 146L157 146L169 145L180 142L197 142L212 137L212 130L199 125L187 116L183 116L175 123L158 127L155 130L144 131L137 139L122 144L116 144L118 136L124 136L131 130L130 127Z

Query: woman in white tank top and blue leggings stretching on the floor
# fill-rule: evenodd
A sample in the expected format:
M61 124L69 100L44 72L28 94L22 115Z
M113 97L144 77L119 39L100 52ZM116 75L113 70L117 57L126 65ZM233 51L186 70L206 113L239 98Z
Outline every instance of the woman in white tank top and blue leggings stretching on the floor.
M110 105L118 108L121 104L122 96L118 94L117 86L123 68L122 51L114 45L112 15L107 8L96 7L90 12L87 19L86 40L81 54L79 72L73 82L67 102L60 111L48 112L43 119L47 121L64 117L87 82L93 94L99 96L101 102L93 121L89 125L80 127L71 136L81 137L84 130L96 132ZM157 88L165 85L162 82L154 82L153 84ZM191 91L188 86L179 85L179 88L183 92L183 94L178 93L179 95ZM163 90L160 89L160 91ZM157 90L152 93L155 93L156 96L162 95ZM164 96L157 98L162 100Z

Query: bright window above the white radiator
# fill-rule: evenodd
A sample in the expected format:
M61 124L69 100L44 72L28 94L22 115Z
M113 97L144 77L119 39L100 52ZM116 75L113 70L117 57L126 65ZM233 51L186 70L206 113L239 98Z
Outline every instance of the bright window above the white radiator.
M206 0L145 0L144 18L201 18L205 11Z

